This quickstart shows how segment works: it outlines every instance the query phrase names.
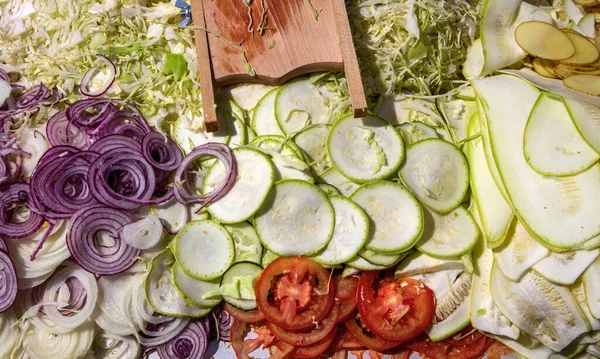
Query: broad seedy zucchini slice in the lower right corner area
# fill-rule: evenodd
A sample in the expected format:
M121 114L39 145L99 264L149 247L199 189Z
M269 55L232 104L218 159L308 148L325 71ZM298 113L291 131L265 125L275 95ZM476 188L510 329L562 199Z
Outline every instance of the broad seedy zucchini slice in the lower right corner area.
M494 264L491 288L502 313L554 351L563 350L588 331L588 323L571 293L534 271L513 282Z

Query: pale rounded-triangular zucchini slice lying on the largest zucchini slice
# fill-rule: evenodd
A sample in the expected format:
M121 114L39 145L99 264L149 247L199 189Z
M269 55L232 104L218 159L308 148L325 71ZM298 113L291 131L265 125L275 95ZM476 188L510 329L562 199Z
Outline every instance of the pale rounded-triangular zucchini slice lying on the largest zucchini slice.
M545 176L572 176L598 161L598 153L581 137L560 97L542 93L523 134L529 166Z

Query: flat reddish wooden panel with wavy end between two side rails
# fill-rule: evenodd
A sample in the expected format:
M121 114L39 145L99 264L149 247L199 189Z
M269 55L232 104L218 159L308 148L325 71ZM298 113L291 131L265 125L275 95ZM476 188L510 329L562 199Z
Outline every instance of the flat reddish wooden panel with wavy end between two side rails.
M311 0L318 20L305 0L252 0L253 33L243 0L204 0L206 27L246 51L256 71L250 76L242 55L230 44L208 36L214 80L223 86L236 82L280 85L293 77L315 71L343 71L343 58L337 37L331 0ZM256 28L262 5L268 8L266 30Z

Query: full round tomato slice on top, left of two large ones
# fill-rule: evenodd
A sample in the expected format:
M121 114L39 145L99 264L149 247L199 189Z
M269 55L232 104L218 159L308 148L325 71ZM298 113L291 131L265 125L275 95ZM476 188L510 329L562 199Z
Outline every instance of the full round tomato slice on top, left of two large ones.
M280 257L261 273L256 304L267 321L285 329L308 329L333 305L329 272L306 257Z

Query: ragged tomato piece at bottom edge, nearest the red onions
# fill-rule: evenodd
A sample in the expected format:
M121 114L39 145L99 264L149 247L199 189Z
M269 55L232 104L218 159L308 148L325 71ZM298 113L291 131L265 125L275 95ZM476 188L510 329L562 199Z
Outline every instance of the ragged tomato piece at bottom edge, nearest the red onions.
M254 339L246 339L251 329L258 335ZM230 340L233 351L238 359L251 359L250 353L262 346L271 347L275 336L265 325L255 326L235 319L231 324Z

